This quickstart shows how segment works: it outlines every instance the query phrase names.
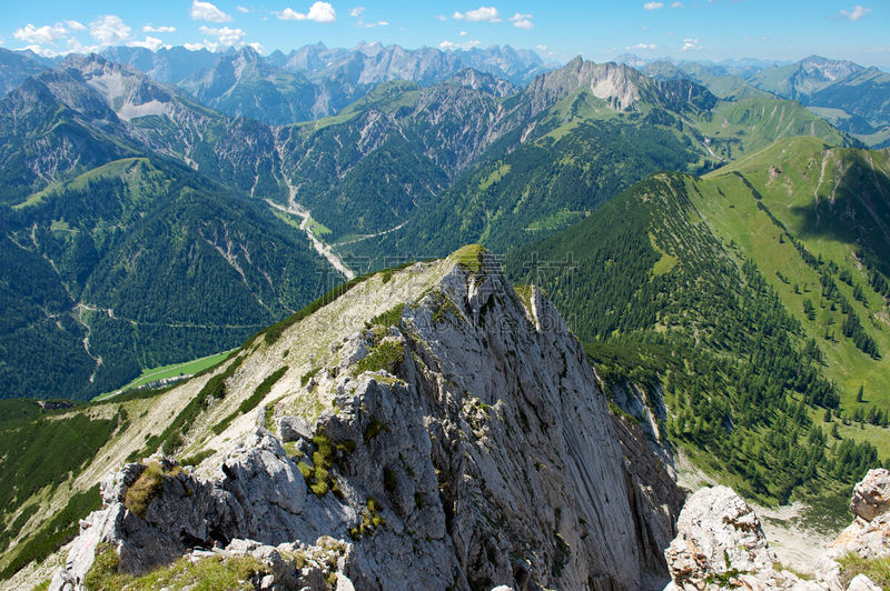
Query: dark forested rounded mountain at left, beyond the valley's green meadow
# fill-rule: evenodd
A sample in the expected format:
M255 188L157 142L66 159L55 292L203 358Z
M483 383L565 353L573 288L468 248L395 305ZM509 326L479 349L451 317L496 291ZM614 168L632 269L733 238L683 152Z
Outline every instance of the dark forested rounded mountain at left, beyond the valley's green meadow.
M286 220L164 160L110 162L0 224L2 398L85 398L231 348L327 283Z

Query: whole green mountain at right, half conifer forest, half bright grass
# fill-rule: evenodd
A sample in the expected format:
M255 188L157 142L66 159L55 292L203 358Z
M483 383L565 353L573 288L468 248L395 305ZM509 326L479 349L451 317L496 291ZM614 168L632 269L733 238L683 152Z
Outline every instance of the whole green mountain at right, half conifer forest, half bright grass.
M606 382L647 387L705 470L767 502L839 490L890 459L886 166L783 140L703 179L656 174L505 264Z

